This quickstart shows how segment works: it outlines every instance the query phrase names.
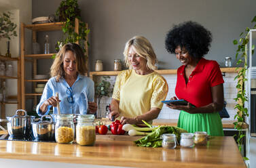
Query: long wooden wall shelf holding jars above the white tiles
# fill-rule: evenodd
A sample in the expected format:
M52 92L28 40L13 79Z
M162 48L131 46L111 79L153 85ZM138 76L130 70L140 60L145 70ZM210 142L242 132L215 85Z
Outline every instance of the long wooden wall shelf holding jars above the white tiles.
M221 68L221 72L238 72L240 68ZM168 74L176 74L176 69L164 69L164 70L156 70L156 72L160 73L161 75L168 75ZM120 71L100 71L100 72L90 72L90 77L96 76L116 76L120 73Z

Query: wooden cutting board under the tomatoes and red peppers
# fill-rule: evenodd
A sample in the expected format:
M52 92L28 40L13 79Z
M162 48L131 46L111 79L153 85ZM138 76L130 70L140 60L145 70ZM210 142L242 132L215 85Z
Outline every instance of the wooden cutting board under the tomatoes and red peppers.
M142 137L143 136L130 136L128 134L113 135L110 131L106 135L96 134L96 140L134 141Z

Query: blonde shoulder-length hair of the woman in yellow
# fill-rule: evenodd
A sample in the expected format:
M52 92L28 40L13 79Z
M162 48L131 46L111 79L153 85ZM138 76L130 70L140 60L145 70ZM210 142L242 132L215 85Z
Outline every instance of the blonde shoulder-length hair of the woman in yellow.
M124 59L127 67L130 69L132 68L130 62L128 61L129 49L131 46L134 47L136 54L147 60L146 66L149 70L157 69L156 63L158 60L156 58L155 51L153 51L151 43L149 43L149 41L142 36L134 36L132 39L126 42L126 47L124 47Z

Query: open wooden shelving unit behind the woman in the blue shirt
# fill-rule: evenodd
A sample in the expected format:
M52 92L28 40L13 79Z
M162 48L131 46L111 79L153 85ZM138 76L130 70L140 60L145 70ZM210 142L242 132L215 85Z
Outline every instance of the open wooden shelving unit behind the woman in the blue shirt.
M63 23L62 22L54 22L54 23L45 23L45 24L24 24L21 23L20 25L20 49L21 49L21 56L20 56L20 83L21 83L21 108L26 109L25 102L26 99L31 98L33 99L33 106L37 105L37 98L41 96L42 93L35 93L35 87L37 86L37 83L46 83L48 81L47 79L28 79L26 77L26 72L25 72L25 62L31 62L33 64L33 77L37 75L37 60L40 59L52 59L52 54L26 54L29 53L29 51L25 51L25 42L24 39L26 37L25 35L25 29L32 30L32 38L33 41L36 41L36 35L38 32L48 32L48 31L55 31L55 30L62 30ZM79 20L76 18L75 19L75 32L79 33ZM86 24L86 28L88 28L88 24ZM78 43L78 41L77 41ZM86 48L88 48L87 41L85 41ZM88 56L88 49L87 51L87 56ZM32 93L29 93L26 91L26 84L27 83L33 83L33 91Z

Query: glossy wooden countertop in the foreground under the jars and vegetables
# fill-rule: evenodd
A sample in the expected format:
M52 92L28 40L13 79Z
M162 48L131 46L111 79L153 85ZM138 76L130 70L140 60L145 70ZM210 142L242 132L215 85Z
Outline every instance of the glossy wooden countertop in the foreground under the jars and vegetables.
M0 158L121 167L246 167L233 137L174 150L118 140L97 139L94 146L0 140Z

